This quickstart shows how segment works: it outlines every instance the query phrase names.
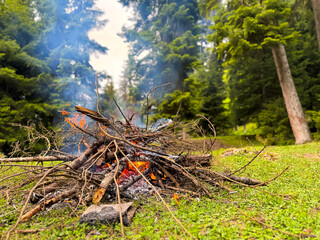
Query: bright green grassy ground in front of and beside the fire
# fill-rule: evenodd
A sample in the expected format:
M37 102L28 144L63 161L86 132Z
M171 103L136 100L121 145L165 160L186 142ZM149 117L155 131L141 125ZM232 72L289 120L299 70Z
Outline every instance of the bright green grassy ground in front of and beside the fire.
M246 145L214 150L213 168L217 171L238 169L262 148ZM171 196L166 200L176 217L198 239L296 239L281 231L304 234L303 238L308 235L320 238L320 142L267 147L241 175L266 181L288 165L290 167L283 175L258 189L230 185L234 189L232 193L219 190L213 199L178 193L178 202ZM279 196L282 194L285 196ZM14 201L19 209L18 199ZM5 198L0 199L0 239L18 216L18 211L6 203ZM135 205L139 208L132 224L124 228L125 239L188 239L154 197L136 201ZM82 211L84 209L74 212L63 208L44 212L17 228L40 232L13 233L11 237L121 239L120 224L93 227L79 224Z

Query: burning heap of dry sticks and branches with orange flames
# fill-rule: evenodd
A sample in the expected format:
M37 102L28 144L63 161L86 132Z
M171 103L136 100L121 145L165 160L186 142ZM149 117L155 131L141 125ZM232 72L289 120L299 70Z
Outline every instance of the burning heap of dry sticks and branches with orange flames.
M77 207L112 203L117 199L121 206L125 199L138 199L141 196L156 195L162 199L163 192L172 195L176 192L187 193L197 197L212 197L217 189L233 192L230 185L224 184L225 181L247 187L262 186L269 182L234 175L249 165L261 151L242 168L219 173L212 169L211 154L205 154L205 151L200 155L191 154L194 150L200 152L200 149L194 149L190 142L177 137L174 121L139 128L132 124L132 116L123 115L125 120L120 122L81 106L76 106L75 110L77 114L73 118L66 111L62 114L67 116L66 121L73 128L91 139L91 143L88 143L82 138L82 144L87 149L79 156L51 154L0 159L5 166L14 166L13 162L20 162L15 166L28 168L25 172L0 180L3 184L17 176L28 176L18 184L0 186L8 198L34 182L28 196L25 196L17 224L65 200L73 202L74 207ZM91 119L90 124L86 122L85 116ZM209 121L208 124L214 131ZM207 146L208 152L213 144L214 139ZM62 162L50 167L21 164L44 161ZM25 213L27 208L29 210ZM119 211L121 220L121 208L116 212Z

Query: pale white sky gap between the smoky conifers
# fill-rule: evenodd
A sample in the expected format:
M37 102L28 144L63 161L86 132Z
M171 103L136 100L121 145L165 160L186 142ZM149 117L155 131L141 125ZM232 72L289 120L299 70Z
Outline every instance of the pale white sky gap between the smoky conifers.
M106 55L92 54L90 64L96 71L106 71L118 88L125 61L128 58L128 44L117 34L123 26L131 26L129 18L132 10L122 7L118 0L97 0L97 7L104 12L102 19L107 19L105 27L89 32L89 37L108 48Z

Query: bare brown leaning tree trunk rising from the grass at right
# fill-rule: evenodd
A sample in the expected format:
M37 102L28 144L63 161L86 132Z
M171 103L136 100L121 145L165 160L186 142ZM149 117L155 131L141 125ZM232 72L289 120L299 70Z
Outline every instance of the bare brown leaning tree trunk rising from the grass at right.
M286 50L283 44L272 47L272 54L296 144L310 142L311 135L309 127L292 79Z

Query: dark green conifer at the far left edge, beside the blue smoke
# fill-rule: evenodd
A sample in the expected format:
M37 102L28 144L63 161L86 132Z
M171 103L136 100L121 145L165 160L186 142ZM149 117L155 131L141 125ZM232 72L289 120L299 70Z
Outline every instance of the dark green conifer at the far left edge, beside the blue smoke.
M50 126L58 105L51 95L53 78L45 61L33 56L42 22L33 3L0 3L0 151L26 140L14 124Z

